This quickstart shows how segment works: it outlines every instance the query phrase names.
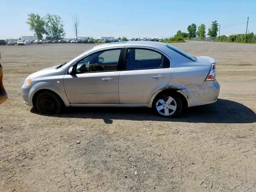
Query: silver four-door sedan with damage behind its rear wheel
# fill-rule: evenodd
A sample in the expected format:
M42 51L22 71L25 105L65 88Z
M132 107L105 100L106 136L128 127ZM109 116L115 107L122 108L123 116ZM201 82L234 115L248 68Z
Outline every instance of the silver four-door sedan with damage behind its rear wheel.
M215 60L147 41L95 46L70 62L40 70L22 86L24 103L41 113L66 106L148 107L176 117L186 107L216 102Z

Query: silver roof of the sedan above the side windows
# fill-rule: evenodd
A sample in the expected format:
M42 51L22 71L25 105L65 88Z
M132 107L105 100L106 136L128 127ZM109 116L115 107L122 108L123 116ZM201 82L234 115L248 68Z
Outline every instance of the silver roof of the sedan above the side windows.
M154 48L156 46L166 47L166 43L154 42L154 41L120 41L120 42L97 45L97 46L94 46L94 49L110 48L110 47L117 47L117 46L146 46L146 47Z

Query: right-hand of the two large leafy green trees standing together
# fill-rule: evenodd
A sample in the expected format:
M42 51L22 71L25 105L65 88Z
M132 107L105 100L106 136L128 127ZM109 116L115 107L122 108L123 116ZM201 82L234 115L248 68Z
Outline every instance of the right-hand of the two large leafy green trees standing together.
M48 38L59 39L66 35L64 31L64 22L58 15L47 13L44 17L45 34Z

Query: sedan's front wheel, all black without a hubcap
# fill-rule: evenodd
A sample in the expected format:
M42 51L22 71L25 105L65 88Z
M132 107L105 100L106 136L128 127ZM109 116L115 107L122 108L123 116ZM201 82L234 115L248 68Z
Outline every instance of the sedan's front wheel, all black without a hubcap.
M42 92L36 98L36 108L40 113L59 114L63 107L60 98L52 92Z

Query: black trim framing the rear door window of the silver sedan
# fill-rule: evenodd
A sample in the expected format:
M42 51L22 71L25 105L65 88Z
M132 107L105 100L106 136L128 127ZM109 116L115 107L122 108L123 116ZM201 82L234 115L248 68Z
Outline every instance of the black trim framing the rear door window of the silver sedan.
M126 58L127 58L127 52L128 52L128 49L143 49L143 50L149 50L149 51L154 51L158 54L160 54L162 56L162 67L157 67L157 68L144 68L144 69L126 69ZM164 67L164 58L163 57L166 57L168 60L169 60L169 67ZM170 68L171 67L171 61L170 59L165 56L164 54L160 53L159 51L157 50L154 50L154 49L151 49L151 48L148 48L148 47L130 47L130 46L127 46L124 48L124 56L123 56L123 60L122 60L122 71L134 71L134 70L148 70L148 69L166 69L166 68Z

